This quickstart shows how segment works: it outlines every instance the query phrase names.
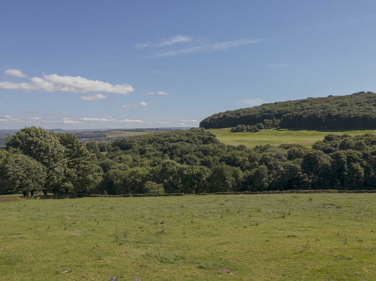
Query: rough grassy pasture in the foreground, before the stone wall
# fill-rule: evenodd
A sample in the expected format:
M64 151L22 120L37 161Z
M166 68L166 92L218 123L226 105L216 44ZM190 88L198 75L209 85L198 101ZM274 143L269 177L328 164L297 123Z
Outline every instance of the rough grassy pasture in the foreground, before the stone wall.
M1 202L0 280L376 280L375 200L318 193Z

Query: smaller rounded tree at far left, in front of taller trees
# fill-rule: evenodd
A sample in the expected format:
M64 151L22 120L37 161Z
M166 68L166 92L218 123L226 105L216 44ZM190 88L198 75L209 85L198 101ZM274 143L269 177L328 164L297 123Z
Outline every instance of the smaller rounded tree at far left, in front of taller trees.
M29 156L20 153L9 153L0 167L1 181L4 190L22 191L24 196L29 192L42 190L47 177L45 167Z

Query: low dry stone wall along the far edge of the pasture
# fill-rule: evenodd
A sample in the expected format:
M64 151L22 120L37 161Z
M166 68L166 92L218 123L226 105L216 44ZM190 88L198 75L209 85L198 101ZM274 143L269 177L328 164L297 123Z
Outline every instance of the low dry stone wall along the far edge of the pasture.
M34 196L1 196L0 202L10 202L22 199L67 199L67 198L83 198L83 197L109 197L109 198L123 198L123 197L161 197L161 196L200 196L200 195L263 195L263 194L290 194L290 193L376 193L376 190L337 190L337 189L320 189L320 190L270 190L270 191L239 191L239 192L214 192L214 193L165 193L165 194L120 194L120 195L106 195L106 194L63 194L63 195L34 195Z

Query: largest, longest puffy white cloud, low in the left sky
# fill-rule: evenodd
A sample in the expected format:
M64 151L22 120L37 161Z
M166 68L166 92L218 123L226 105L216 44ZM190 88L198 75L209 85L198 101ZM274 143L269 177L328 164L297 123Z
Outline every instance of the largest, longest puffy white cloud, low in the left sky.
M12 69L13 72L18 69ZM7 69L5 72L8 72ZM21 71L20 71L21 73ZM45 75L43 77L32 77L29 83L13 83L10 81L0 82L0 89L19 90L19 91L46 91L46 92L107 92L115 94L127 95L134 91L132 86L112 85L110 83L88 80L86 78L77 76L58 76L57 74Z

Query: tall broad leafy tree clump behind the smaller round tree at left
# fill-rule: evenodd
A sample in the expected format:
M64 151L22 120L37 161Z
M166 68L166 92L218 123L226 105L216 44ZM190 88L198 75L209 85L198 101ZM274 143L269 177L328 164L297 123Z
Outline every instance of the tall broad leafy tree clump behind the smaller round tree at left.
M55 134L42 128L25 127L9 137L6 145L8 150L22 155L19 161L24 161L27 167L43 169L40 175L44 184L38 190L45 194L47 190L83 192L100 181L101 171L95 163L95 154L90 153L75 134ZM6 163L4 165L6 168Z

